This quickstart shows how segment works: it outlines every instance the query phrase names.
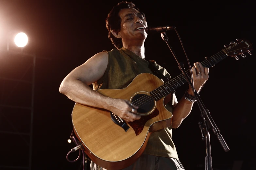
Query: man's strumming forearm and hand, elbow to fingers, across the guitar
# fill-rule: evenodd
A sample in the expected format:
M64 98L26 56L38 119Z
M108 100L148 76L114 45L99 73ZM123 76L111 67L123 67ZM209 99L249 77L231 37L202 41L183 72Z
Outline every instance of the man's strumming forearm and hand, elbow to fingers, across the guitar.
M78 79L62 81L60 92L76 103L109 110L125 121L134 121L141 118L136 115L137 106L130 105L124 99L104 96Z

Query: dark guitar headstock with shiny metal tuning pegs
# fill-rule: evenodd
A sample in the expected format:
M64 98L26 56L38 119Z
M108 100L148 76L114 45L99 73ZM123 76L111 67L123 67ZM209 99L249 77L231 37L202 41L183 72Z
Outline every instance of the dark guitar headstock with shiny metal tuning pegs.
M226 49L223 51L231 57L234 57L236 60L239 60L238 55L241 55L243 58L246 56L244 53L249 53L251 55L252 44L247 40L236 39L236 42L230 42L229 45L225 45Z

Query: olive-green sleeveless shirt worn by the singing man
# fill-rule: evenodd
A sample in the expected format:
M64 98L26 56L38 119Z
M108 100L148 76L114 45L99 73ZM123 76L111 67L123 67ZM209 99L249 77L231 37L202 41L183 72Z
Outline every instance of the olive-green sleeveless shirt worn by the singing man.
M119 50L113 49L106 52L108 53L108 66L103 77L93 83L94 90L123 89L127 87L138 74L153 74L146 60L124 47ZM170 75L163 67L155 62L153 62L153 64L164 76L171 79ZM172 113L171 105L167 104L165 108ZM172 127L152 133L144 153L179 159L171 137Z

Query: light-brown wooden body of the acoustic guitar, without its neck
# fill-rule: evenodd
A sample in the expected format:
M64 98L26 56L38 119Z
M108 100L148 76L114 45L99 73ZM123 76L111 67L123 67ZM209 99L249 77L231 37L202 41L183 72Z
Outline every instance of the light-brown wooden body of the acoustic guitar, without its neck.
M124 89L97 92L132 101L136 94L148 94L162 84L153 74L142 73ZM163 100L154 100L153 107L140 120L126 122L128 129L115 123L110 111L76 103L72 112L74 132L86 154L99 166L113 170L128 167L144 152L151 133L171 126L172 114Z

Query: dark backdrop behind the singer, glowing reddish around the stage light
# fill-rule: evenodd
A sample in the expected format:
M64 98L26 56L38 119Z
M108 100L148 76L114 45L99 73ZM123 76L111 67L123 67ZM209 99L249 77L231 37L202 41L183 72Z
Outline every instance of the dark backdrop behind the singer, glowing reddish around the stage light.
M102 50L114 46L107 37L105 18L119 1L0 1L0 73L1 77L31 81L32 57L3 52L7 39L9 50L18 31L29 37L24 53L36 54L35 94L32 142L32 169L82 169L66 160L75 147L68 143L72 131L74 102L59 92L63 78ZM252 1L133 1L146 15L148 26L176 27L190 63L213 56L230 41L255 41L255 5ZM167 33L179 61L187 61L174 30ZM212 162L215 170L256 169L255 153L255 54L235 60L228 57L210 68L209 80L200 92L221 135L230 148L225 152L211 131ZM165 67L174 78L181 74L174 57L160 34L148 35L145 55ZM8 106L31 106L29 83L0 79L0 169L28 166L29 136L8 132L30 132L30 110ZM177 89L179 98L188 85ZM179 159L186 170L204 169L205 142L201 140L198 121L202 121L195 104L191 114L173 130ZM70 156L76 159L77 153ZM9 166L9 167L7 167ZM15 168L11 166L19 166ZM2 167L2 168L1 168ZM234 170L234 169L232 169Z

